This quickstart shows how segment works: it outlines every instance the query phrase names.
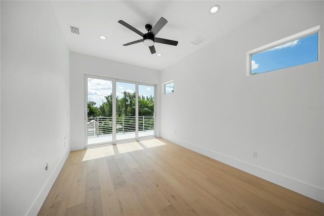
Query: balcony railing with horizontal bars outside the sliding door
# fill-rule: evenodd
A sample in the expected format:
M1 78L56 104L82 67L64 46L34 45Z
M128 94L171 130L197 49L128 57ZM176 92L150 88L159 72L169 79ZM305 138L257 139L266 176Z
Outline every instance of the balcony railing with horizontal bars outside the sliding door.
M135 132L135 116L116 117L116 132ZM147 131L154 129L153 116L139 116L138 130ZM88 117L88 136L99 136L112 133L112 117Z

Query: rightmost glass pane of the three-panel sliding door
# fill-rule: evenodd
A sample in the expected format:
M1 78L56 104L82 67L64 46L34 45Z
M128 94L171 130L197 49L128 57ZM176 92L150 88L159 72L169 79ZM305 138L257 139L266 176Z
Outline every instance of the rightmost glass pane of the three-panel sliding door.
M154 86L138 85L138 136L154 135Z

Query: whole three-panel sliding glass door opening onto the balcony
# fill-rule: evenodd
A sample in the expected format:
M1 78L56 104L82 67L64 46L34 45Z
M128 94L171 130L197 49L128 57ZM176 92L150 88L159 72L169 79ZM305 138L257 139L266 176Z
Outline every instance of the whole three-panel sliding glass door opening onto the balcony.
M86 76L87 145L154 136L154 85Z

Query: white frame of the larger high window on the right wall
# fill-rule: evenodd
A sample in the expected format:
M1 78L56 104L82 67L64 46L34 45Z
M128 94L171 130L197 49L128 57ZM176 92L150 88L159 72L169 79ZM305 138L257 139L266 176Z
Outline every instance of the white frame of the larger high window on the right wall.
M277 41L272 42L270 44L267 44L267 45L261 46L259 48L248 51L247 55L246 55L246 59L247 59L247 71L246 71L247 76L264 74L264 73L273 71L273 70L269 70L269 71L265 71L263 73L251 74L251 72L252 72L252 70L251 70L251 62L252 62L252 55L253 54L256 54L256 53L259 53L259 52L262 52L262 51L265 51L265 50L280 46L282 44L289 43L291 41L295 41L297 39L307 37L308 35L311 35L311 34L316 33L316 32L318 34L318 37L317 37L317 47L318 47L317 48L317 61L319 61L319 50L320 50L320 44L319 44L319 42L320 42L320 35L319 35L320 28L319 27L320 26L317 25L317 26L309 28L307 30L304 30L304 31L298 32L296 34L290 35L289 37L286 37L284 39L280 39L280 40L277 40ZM298 66L298 65L294 65L294 66ZM292 66L290 66L290 67L292 67ZM288 68L288 67L285 67L285 68ZM284 68L279 68L279 69L284 69Z

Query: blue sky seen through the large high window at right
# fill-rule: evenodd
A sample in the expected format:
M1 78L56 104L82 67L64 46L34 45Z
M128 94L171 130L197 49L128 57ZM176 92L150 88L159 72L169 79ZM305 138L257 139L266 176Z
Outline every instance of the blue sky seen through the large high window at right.
M255 53L251 56L251 74L317 61L318 33Z

